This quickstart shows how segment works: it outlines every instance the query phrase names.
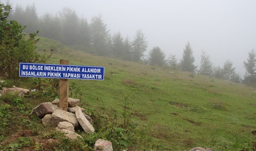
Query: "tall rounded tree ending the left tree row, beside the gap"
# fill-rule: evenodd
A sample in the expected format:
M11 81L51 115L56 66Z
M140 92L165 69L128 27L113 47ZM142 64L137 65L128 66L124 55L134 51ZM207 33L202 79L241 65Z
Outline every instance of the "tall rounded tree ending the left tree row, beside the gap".
M141 30L136 32L134 40L132 42L132 58L133 61L139 61L144 52L148 48L148 42L144 33Z

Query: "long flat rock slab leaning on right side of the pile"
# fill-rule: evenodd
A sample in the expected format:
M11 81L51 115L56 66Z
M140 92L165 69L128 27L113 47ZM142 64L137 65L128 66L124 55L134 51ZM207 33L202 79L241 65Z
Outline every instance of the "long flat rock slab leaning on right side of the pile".
M93 133L95 130L92 126L92 124L88 121L88 119L85 117L81 109L76 110L75 116L81 127L84 129L87 133Z

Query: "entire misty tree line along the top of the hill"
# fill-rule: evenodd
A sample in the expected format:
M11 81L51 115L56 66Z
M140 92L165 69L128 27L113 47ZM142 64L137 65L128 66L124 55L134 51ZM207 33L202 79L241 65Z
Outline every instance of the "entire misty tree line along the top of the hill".
M26 25L27 28L24 29L26 33L34 33L39 30L39 36L55 39L69 46L78 46L79 49L89 53L130 61L142 60L150 65L165 65L173 70L190 71L227 81L242 82L241 75L235 71L232 61L226 60L223 67L216 67L204 50L201 54L200 66L197 69L197 66L194 65L195 58L189 42L186 44L183 57L179 62L172 54L165 59L166 55L160 47L153 47L148 56L144 58L148 41L142 30L137 30L133 40L130 40L128 35L124 38L120 31L111 35L102 15L92 17L89 23L86 18L78 17L74 10L64 7L54 15L47 12L38 16L35 4L31 4L25 8L17 5L10 11L8 18ZM255 51L252 50L249 52L249 59L244 62L246 68L244 83L253 84L256 82L255 60Z

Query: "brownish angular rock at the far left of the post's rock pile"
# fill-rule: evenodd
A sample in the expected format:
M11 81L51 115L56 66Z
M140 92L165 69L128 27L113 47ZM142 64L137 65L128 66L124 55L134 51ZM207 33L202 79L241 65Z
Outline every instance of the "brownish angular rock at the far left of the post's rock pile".
M52 114L56 109L58 109L57 105L53 105L51 102L44 102L35 107L32 111L32 114L42 118L46 114Z

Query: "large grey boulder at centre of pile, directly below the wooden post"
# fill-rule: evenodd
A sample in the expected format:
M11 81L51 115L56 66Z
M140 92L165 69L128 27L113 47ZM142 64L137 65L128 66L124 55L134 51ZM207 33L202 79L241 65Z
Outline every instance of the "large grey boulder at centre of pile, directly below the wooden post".
M70 122L74 127L77 127L78 125L75 114L66 112L61 109L56 109L52 114L50 123L55 127L57 127L59 122L62 122L62 121Z

